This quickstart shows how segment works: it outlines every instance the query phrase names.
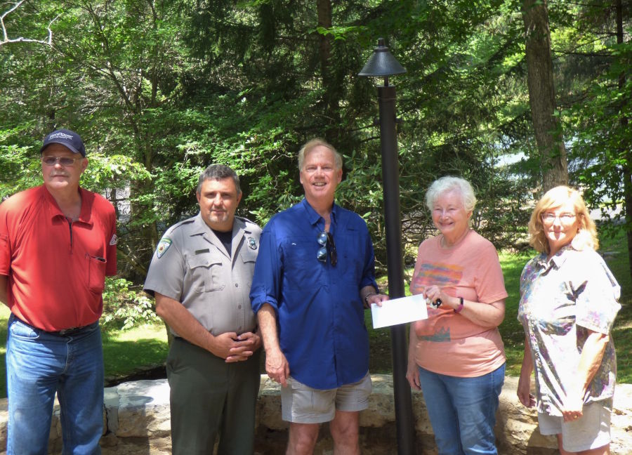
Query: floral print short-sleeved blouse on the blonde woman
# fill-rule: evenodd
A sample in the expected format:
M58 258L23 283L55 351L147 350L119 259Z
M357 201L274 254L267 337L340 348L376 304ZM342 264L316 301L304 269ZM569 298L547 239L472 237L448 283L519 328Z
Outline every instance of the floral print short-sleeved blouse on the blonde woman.
M591 249L568 245L550 261L532 258L520 276L518 320L533 358L539 412L561 416L565 390L577 375L588 330L609 334L621 308L621 288L603 258ZM612 337L588 386L584 403L614 394L617 358Z

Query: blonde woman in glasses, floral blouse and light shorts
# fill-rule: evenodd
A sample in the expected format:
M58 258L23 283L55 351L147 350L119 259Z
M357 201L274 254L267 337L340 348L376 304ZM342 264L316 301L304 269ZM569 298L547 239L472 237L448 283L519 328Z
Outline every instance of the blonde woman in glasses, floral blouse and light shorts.
M537 404L540 433L557 435L561 455L610 454L617 375L610 329L621 308L619 284L595 252L595 223L577 190L546 192L529 234L540 254L520 277L518 320L526 337L518 398Z

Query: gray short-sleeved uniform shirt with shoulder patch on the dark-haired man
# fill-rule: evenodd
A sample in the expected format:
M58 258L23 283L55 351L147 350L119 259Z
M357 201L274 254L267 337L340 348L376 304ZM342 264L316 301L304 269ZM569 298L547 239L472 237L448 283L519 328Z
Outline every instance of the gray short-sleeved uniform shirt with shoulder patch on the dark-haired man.
M144 289L182 303L213 336L254 331L249 293L260 235L258 225L236 216L229 256L198 213L164 233Z

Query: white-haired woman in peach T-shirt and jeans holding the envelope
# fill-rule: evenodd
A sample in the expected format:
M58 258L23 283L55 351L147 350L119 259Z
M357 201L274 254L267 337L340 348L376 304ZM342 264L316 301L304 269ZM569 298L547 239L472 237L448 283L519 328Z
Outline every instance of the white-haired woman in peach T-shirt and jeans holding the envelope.
M419 246L410 289L428 319L410 329L407 379L423 390L440 455L497 454L494 424L505 376L505 316L496 249L469 227L470 183L443 177L426 193L440 232Z

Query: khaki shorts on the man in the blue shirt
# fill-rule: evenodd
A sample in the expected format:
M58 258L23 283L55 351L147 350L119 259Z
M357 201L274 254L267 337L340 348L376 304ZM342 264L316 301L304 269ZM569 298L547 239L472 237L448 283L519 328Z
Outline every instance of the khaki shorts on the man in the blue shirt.
M284 421L292 423L323 423L334 420L338 411L362 411L369 407L371 376L329 390L311 388L289 377L281 388L281 408Z

